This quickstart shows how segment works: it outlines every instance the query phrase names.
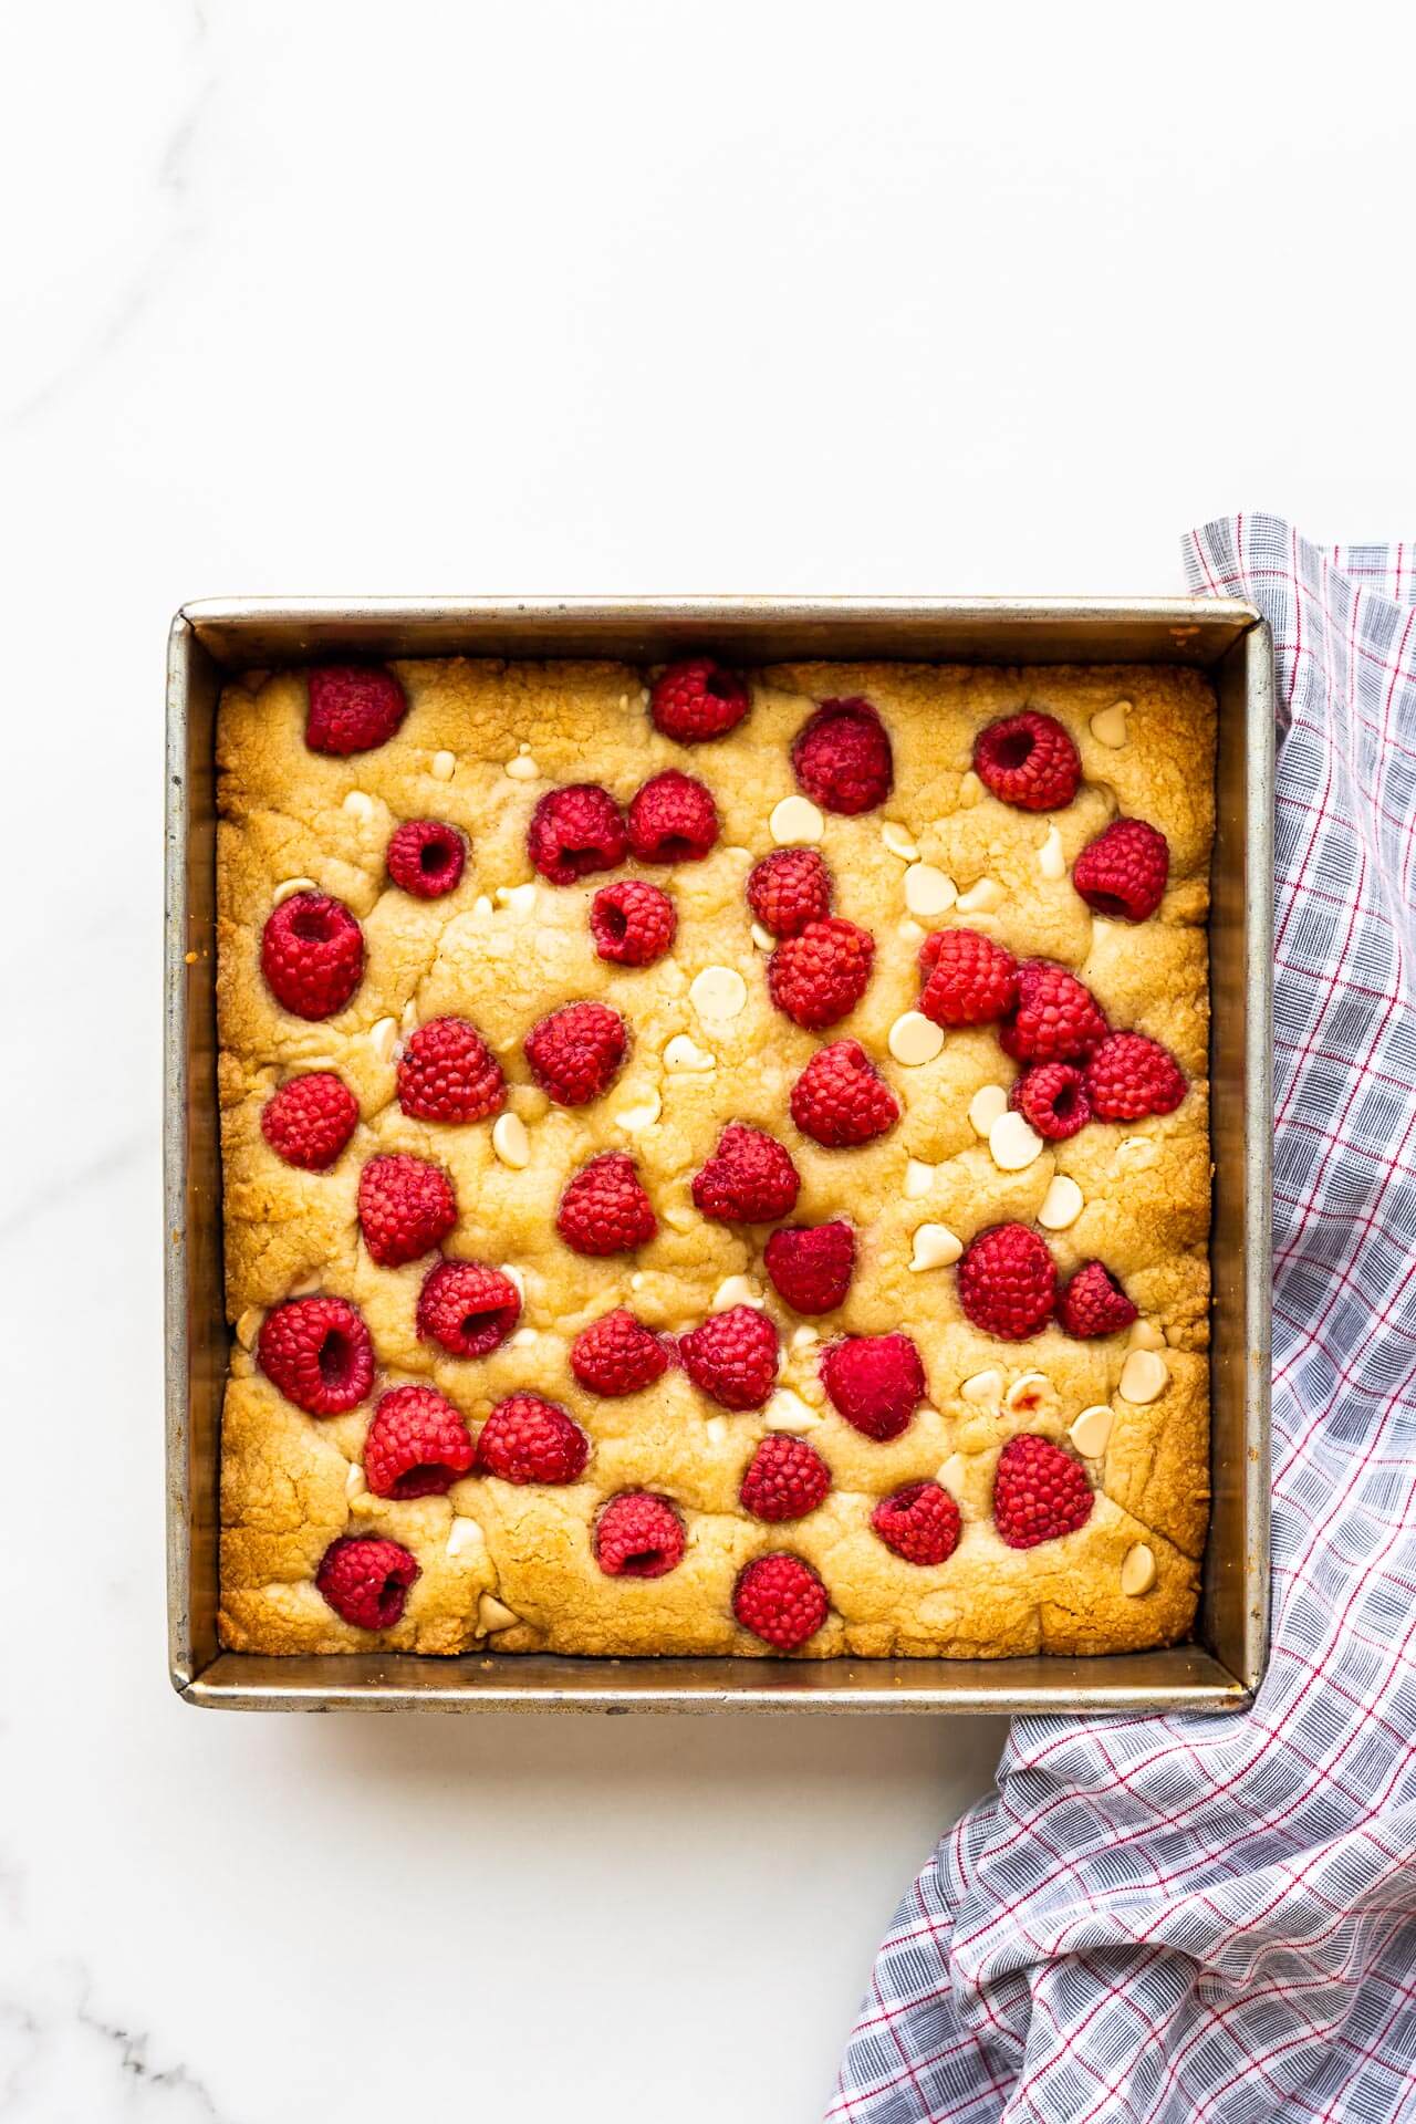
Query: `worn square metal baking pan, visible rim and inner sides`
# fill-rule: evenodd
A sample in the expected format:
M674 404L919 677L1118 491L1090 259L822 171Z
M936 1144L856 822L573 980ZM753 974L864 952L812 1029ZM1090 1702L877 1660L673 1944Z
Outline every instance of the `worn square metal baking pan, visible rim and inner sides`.
M217 1113L217 699L238 671L391 656L1180 663L1219 692L1210 915L1212 1517L1197 1635L1098 1659L272 1659L217 1644L229 1334ZM172 1682L234 1710L1146 1712L1250 1701L1267 1648L1274 654L1219 599L212 599L168 650L166 1404Z

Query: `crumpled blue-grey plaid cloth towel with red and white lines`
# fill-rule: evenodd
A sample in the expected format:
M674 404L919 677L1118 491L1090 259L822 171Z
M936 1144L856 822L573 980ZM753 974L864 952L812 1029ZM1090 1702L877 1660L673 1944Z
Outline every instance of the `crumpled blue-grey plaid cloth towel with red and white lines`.
M1416 2120L1416 546L1187 539L1274 627L1274 1644L1019 1718L875 1963L851 2124Z

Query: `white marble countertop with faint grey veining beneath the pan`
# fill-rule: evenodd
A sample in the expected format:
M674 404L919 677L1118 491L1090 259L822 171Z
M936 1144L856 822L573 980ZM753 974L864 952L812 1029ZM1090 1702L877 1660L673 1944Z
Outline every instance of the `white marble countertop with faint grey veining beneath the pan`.
M227 590L1170 590L1233 506L1410 533L1412 32L1206 15L4 11L6 2124L817 2116L996 1723L166 1689L163 633Z

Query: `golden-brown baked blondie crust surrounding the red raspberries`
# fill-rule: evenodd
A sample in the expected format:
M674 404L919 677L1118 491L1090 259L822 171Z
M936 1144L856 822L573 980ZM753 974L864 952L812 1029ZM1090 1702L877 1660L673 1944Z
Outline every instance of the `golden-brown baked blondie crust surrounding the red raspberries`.
M764 1652L732 1616L732 1587L752 1557L775 1551L805 1557L830 1595L807 1657L1108 1652L1182 1638L1208 1514L1210 686L1163 667L794 665L754 673L739 729L688 748L652 729L645 675L624 665L429 661L395 671L410 701L401 729L348 758L306 748L301 673L234 684L221 703L221 1107L236 1328L223 1642L257 1652ZM815 703L851 695L864 695L890 733L894 792L856 818L828 813L819 847L836 879L834 911L875 937L875 973L843 1024L807 1032L773 1009L743 884L775 845L773 809L796 790L792 737ZM1061 811L1013 809L970 771L977 733L1023 707L1055 716L1081 752L1085 780ZM662 884L679 918L667 958L622 969L597 958L588 935L588 903L607 875L546 884L526 856L526 822L558 784L601 782L624 805L667 767L707 782L722 835L707 860L609 873ZM1076 854L1121 813L1170 841L1165 901L1138 926L1093 915L1070 881ZM446 898L414 898L386 877L388 837L416 818L448 820L467 837L465 873ZM906 907L911 850L957 888L960 901L936 918ZM344 901L367 947L348 1007L314 1024L276 1005L259 962L263 922L297 879ZM957 922L1019 958L1074 969L1112 1026L1163 1041L1189 1077L1178 1111L1091 1121L1044 1143L1023 1170L1000 1170L970 1119L974 1094L1017 1075L998 1028L951 1030L943 1054L919 1066L890 1049L892 1026L919 998L923 930ZM690 983L709 966L741 975L739 1015L698 1015ZM577 998L622 1011L633 1045L605 1096L563 1109L531 1081L522 1041ZM524 1168L497 1158L490 1121L437 1126L401 1113L399 1041L444 1013L469 1017L503 1064L510 1109L531 1138ZM675 1037L709 1066L671 1066ZM866 1047L902 1117L864 1147L822 1149L794 1128L788 1098L811 1054L843 1037ZM673 1054L684 1051L679 1041ZM289 1077L321 1066L357 1096L359 1126L331 1170L304 1172L267 1147L261 1109ZM794 1221L856 1226L858 1270L839 1313L792 1315L762 1272L766 1230L713 1223L694 1209L692 1177L730 1119L788 1145L802 1179ZM567 1179L603 1149L633 1153L658 1234L635 1255L586 1260L558 1238L554 1217ZM369 1260L357 1185L376 1151L448 1170L459 1202L448 1257L518 1272L520 1328L493 1355L454 1359L418 1338L429 1260ZM1072 1340L1057 1325L1025 1342L991 1340L964 1317L951 1266L911 1270L913 1232L928 1221L968 1243L1006 1219L1036 1226L1057 1175L1083 1198L1068 1228L1047 1232L1059 1274L1104 1260L1140 1323L1100 1340ZM728 1415L677 1368L641 1393L601 1400L569 1370L573 1336L614 1306L677 1334L747 1289L781 1330L792 1400ZM267 1308L304 1291L344 1296L367 1319L378 1376L348 1415L304 1415L255 1361ZM890 1330L917 1342L928 1402L881 1444L832 1410L817 1364L832 1336ZM1119 1391L1136 1344L1159 1344L1155 1400ZM446 1495L376 1497L363 1483L363 1436L378 1393L399 1383L437 1387L473 1432L503 1395L541 1393L588 1434L588 1468L567 1487L469 1474ZM1002 1444L1023 1429L1066 1442L1076 1417L1102 1404L1115 1421L1106 1449L1087 1459L1087 1523L1036 1548L1004 1546L991 1523ZM764 1525L739 1506L743 1470L771 1425L805 1429L832 1472L826 1502L792 1525ZM870 1510L928 1476L955 1495L964 1531L945 1563L915 1565L873 1534ZM669 1497L684 1521L684 1559L662 1578L597 1568L594 1514L624 1489ZM420 1565L384 1635L340 1621L314 1587L323 1553L348 1534L388 1536ZM1127 1559L1127 1585L1149 1576L1146 1551L1153 1585L1123 1591Z

